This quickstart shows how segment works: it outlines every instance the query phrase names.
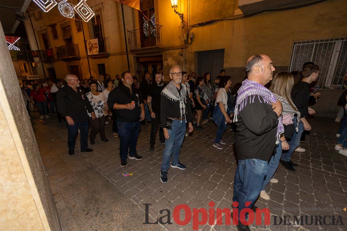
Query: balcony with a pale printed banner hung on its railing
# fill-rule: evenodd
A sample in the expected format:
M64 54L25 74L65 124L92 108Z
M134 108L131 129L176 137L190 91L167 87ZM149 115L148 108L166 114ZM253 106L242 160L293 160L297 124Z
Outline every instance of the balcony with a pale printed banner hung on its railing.
M98 43L93 40L85 41L87 46L88 57L92 59L110 56L110 45L108 38L98 38Z

